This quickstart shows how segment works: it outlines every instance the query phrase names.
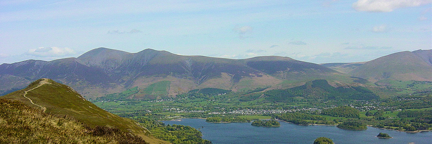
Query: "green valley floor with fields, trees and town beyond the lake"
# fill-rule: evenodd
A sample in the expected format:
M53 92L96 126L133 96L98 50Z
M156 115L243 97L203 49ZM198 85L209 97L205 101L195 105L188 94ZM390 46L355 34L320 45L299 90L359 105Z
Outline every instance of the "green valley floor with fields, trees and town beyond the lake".
M172 120L177 118L246 117L246 120L243 121L250 122L251 120L260 119L250 116L259 115L266 116L266 118L285 120L299 125L337 125L343 122L354 121L360 122L364 125L371 125L376 128L394 129L399 131L432 130L432 125L429 120L430 116L432 116L429 114L432 106L432 95L431 92L427 91L431 88L431 83L400 81L398 84L400 85L399 87L395 86L388 90L393 91L394 93L400 93L399 96L393 96L391 98L373 98L368 100L356 100L352 98L334 99L333 97L321 99L291 97L285 98L286 101L275 102L266 97L261 97L245 101L242 96L249 94L249 92L227 93L227 91L224 90L213 90L214 93L207 93L205 91L206 94L203 94L199 93L200 90L194 90L190 93L178 95L177 98L172 99L136 100L108 99L112 97L100 97L90 101L109 112L136 120L143 118ZM326 85L323 86L325 88ZM319 89L314 90L319 91ZM418 92L404 94L404 90L417 90ZM252 93L265 92L258 91ZM360 96L364 96L364 93L360 94ZM357 111L356 114L352 114L356 116L329 115L323 112L338 106L349 106L353 111ZM344 110L333 110L333 112L327 113L343 111ZM403 112L410 113L413 111L425 113L414 117L400 114ZM289 113L294 114L289 116L289 120L282 118L283 115ZM297 117L303 120L297 120ZM308 119L305 117L314 118ZM416 128L410 127L411 125Z

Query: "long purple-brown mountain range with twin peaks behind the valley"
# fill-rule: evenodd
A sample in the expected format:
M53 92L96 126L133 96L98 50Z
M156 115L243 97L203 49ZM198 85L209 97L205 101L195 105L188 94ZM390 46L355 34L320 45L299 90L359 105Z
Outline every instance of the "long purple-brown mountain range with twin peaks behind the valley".
M280 89L325 79L332 85L349 85L357 78L330 68L292 58L266 56L248 59L184 56L168 51L145 49L128 53L96 48L78 58L54 61L22 61L0 65L1 92L25 87L32 80L46 77L72 86L88 98L119 93L137 87L137 97L162 98L206 87L225 90ZM157 93L149 87L169 81ZM357 80L358 81L358 80ZM161 95L161 93L166 94Z

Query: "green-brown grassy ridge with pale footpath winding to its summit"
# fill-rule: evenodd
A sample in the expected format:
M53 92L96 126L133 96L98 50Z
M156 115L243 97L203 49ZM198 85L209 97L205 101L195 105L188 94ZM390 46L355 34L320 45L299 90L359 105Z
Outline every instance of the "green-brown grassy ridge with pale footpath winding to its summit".
M132 132L152 144L167 143L149 136L149 132L137 122L100 109L69 86L53 80L36 80L25 89L0 98L18 100L30 107L39 108L54 115L68 115L87 125L119 128L121 131Z

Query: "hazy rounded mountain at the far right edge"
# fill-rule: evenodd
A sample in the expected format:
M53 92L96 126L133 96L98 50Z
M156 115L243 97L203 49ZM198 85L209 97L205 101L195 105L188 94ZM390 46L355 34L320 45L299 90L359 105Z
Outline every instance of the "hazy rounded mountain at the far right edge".
M432 50L402 51L368 61L347 74L382 79L432 81Z

